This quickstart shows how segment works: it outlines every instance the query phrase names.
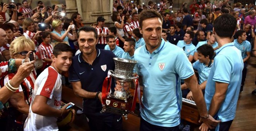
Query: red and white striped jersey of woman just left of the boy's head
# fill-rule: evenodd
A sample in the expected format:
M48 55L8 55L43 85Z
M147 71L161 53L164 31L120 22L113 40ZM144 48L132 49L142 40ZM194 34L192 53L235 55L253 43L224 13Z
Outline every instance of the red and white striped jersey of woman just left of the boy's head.
M52 51L53 51L52 44L45 44L45 43L42 42L38 46L39 57L42 60L45 59L45 58L51 59ZM45 62L45 61L43 60L43 62Z

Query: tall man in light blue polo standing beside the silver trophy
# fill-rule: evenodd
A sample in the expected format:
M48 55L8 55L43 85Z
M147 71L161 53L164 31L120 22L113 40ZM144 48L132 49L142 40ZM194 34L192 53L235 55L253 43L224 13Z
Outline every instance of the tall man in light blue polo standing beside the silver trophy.
M185 52L161 39L162 20L156 10L145 10L139 16L140 33L145 40L145 45L134 53L138 61L135 67L144 85L140 131L178 130L182 106L180 79L193 92L202 121L216 126L218 121L206 111L202 91ZM120 84L116 89L121 90Z

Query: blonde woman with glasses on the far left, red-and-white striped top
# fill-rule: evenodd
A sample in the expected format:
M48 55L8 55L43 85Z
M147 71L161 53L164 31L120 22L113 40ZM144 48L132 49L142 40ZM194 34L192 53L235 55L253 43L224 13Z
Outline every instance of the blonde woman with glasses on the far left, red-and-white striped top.
M25 59L29 51L35 52L35 44L31 39L22 36L12 41L9 50L12 59ZM10 79L14 78L14 75L15 74L11 73L5 76L3 83L8 83ZM23 114L28 115L35 80L36 72L34 69L29 76L21 82L19 89L10 97L9 104L11 106L8 110L8 114L15 113L15 115L10 115L11 119L9 119L9 123L12 124L7 125L8 128L14 130L23 129L22 123L24 123L24 121L22 116Z

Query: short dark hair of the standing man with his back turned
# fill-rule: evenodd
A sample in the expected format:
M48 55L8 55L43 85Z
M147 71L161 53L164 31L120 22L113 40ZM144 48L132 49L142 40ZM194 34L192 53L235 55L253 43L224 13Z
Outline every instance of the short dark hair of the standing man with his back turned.
M231 38L235 32L237 20L233 15L225 13L214 20L213 28L220 37Z

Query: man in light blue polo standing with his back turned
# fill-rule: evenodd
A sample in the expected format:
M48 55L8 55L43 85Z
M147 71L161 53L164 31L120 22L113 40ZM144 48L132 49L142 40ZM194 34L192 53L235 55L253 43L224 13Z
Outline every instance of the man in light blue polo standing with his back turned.
M219 49L207 79L204 99L208 113L221 120L215 131L228 131L235 118L244 68L241 51L231 40L236 24L235 17L225 13L217 17L213 25L213 34ZM202 123L199 129L207 131L208 126Z

